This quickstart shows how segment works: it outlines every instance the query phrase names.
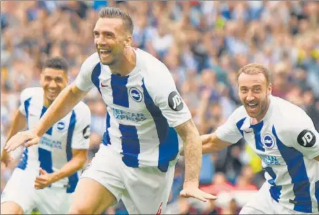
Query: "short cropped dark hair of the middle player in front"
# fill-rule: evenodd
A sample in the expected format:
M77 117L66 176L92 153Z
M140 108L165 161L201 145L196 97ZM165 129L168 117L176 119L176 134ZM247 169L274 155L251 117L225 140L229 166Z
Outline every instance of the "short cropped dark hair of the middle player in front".
M99 10L99 18L119 18L124 22L126 30L133 34L133 21L129 14L119 8L105 7Z

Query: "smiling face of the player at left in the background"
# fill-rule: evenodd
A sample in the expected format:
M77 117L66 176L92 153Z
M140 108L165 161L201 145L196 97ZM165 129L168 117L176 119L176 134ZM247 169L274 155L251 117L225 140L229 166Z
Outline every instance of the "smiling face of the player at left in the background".
M45 68L41 73L40 83L44 91L44 98L52 103L68 85L68 77L63 70Z

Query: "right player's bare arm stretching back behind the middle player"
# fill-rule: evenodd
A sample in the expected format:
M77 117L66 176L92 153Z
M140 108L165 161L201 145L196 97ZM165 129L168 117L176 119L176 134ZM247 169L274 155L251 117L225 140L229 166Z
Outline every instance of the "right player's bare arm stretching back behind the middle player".
M223 150L225 147L231 145L231 143L229 142L218 139L215 133L204 134L200 137L202 139L203 154L218 152L220 150Z

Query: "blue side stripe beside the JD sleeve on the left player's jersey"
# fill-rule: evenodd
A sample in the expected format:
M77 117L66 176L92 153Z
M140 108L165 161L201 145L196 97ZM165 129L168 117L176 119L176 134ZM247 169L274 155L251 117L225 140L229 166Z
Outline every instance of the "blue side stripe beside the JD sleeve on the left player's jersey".
M66 139L66 158L68 161L72 159L72 137L75 130L75 123L77 123L77 116L75 115L75 111L72 110L70 124L68 125L68 136ZM66 192L74 192L78 181L79 177L77 176L77 172L68 176L68 188L66 189Z

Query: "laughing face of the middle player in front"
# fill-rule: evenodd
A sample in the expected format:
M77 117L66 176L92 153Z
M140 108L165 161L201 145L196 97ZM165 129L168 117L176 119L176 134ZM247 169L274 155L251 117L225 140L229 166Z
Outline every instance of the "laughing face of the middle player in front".
M104 65L114 65L124 52L126 32L122 19L99 18L93 30L95 48Z

